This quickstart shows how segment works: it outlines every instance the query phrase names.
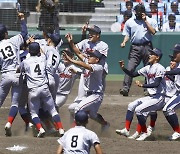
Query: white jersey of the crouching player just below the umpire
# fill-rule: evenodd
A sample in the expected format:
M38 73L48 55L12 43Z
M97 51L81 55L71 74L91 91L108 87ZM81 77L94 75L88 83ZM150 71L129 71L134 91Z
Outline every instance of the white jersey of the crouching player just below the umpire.
M166 92L166 83L164 80L165 68L159 64L147 65L140 70L138 70L140 75L146 77L147 84L154 83L155 79L161 77L161 83L157 88L147 88L147 91L150 95L154 94L165 94Z

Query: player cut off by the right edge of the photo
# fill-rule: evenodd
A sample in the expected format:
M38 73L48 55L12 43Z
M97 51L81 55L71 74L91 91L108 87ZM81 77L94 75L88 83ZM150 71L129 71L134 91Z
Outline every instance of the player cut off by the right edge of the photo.
M174 61L177 62L177 68L171 71L167 71L167 75L175 75L176 94L166 103L163 108L164 115L174 130L174 133L170 136L169 140L177 140L180 138L180 126L178 122L178 116L175 112L180 107L180 44L174 46Z

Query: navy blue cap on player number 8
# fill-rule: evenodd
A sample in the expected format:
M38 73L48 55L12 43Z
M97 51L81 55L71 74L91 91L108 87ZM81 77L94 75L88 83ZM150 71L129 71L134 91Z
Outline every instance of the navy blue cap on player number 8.
M86 123L88 118L88 114L83 110L77 111L75 113L75 121L78 123Z

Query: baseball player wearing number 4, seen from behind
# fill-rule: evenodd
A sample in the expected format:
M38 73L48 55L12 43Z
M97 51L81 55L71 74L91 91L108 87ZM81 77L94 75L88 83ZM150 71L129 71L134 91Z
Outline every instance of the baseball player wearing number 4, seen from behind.
M33 42L29 45L29 53L31 57L25 59L21 63L21 72L25 72L27 78L27 87L29 91L28 105L32 121L39 131L37 137L44 137L45 135L45 130L38 116L41 105L49 111L56 125L56 129L59 131L60 135L63 135L64 130L60 116L55 109L55 103L48 87L46 57L43 54L41 55L40 46L37 42ZM42 104L40 102L42 102Z

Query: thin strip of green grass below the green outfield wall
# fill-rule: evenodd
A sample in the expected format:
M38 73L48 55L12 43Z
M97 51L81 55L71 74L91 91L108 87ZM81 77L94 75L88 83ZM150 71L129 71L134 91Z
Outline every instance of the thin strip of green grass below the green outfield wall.
M122 75L122 74L109 74L106 77L106 81L123 81L123 79L124 79L124 75ZM134 78L134 80L142 81L142 80L144 80L144 77L139 76L139 77Z

